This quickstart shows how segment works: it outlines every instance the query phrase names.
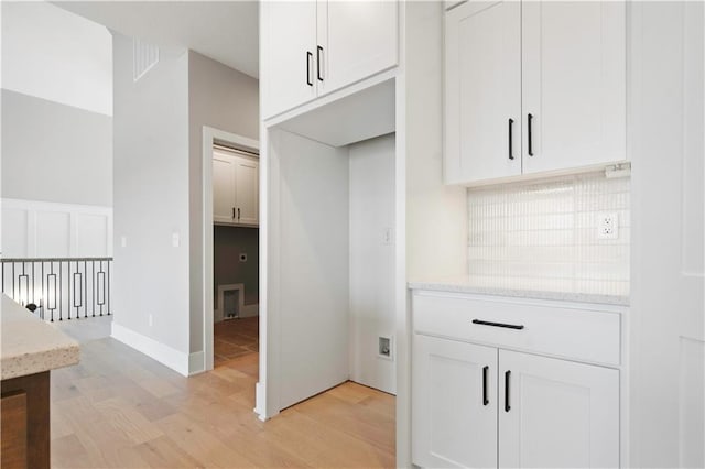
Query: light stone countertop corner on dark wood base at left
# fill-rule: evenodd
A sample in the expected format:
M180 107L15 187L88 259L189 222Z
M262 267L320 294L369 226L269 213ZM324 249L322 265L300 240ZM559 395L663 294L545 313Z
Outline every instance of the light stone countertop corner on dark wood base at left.
M2 295L0 379L78 363L78 342Z

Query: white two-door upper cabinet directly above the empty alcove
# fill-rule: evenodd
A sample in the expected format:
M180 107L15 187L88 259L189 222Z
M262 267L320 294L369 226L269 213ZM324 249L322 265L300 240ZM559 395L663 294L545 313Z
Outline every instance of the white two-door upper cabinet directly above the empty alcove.
M264 119L394 67L395 1L261 3Z

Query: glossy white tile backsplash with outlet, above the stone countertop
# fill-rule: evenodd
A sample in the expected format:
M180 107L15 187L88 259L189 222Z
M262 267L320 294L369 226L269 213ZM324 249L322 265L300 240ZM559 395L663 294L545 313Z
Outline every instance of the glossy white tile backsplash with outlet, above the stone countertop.
M629 295L629 182L589 173L469 188L473 283ZM598 238L605 214L617 215L617 239Z

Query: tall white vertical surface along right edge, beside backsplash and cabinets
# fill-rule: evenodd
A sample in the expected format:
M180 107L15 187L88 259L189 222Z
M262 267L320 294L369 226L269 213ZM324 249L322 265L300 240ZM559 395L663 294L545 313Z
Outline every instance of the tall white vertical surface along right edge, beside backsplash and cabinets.
M630 466L704 467L704 8L630 9Z

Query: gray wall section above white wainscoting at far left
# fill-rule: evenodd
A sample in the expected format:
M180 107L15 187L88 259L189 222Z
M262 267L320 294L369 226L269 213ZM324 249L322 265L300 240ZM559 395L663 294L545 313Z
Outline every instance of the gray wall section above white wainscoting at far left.
M2 197L112 205L112 118L2 90Z

